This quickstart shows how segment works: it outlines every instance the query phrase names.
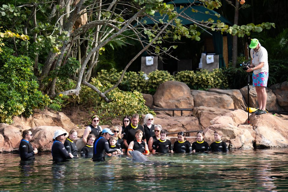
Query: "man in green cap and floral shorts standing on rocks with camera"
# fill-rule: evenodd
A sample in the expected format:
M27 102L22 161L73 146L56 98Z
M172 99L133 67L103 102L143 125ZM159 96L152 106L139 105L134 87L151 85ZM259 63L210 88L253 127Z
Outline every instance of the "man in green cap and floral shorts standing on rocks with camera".
M267 81L269 76L268 53L267 50L261 46L258 39L251 39L249 47L251 48L251 64L250 67L248 67L247 72L253 71L253 86L256 88L259 104L259 108L255 113L256 115L261 115L267 113L267 93L265 87L267 87Z

